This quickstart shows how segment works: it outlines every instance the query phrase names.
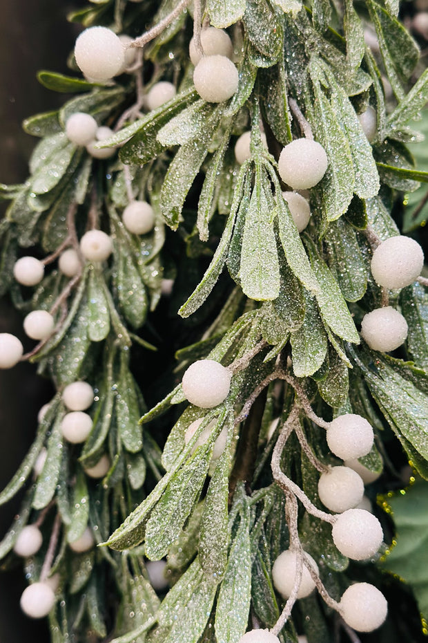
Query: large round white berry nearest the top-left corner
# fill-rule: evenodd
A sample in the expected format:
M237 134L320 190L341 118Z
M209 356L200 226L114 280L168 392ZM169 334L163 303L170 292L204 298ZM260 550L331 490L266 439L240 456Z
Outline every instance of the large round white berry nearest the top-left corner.
M110 80L124 66L124 46L111 29L89 27L77 37L75 59L92 80Z

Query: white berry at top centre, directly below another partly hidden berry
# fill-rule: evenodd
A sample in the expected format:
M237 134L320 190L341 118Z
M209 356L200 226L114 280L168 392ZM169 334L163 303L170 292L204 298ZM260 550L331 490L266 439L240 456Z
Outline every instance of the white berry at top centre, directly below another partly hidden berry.
M195 89L208 103L222 103L237 90L237 68L226 56L204 56L193 72Z

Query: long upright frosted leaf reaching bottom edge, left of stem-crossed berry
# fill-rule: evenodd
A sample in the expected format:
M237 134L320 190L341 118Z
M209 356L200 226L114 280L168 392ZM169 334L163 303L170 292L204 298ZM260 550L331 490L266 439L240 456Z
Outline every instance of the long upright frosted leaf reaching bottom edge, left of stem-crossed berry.
M218 643L238 643L246 631L251 602L250 512L244 505L229 553L215 611Z

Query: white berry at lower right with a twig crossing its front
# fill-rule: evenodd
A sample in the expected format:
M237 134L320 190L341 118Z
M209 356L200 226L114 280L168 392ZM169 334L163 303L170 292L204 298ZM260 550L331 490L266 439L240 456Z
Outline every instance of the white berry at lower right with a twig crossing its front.
M309 559L309 561L308 561ZM293 591L295 581L295 568L298 561L298 554L291 550L286 550L278 556L272 567L272 580L275 588L284 597L288 598ZM307 565L311 565L313 570L318 574L318 565L309 554L305 554L302 568L302 580L298 591L298 598L304 598L314 590L315 583L309 573Z

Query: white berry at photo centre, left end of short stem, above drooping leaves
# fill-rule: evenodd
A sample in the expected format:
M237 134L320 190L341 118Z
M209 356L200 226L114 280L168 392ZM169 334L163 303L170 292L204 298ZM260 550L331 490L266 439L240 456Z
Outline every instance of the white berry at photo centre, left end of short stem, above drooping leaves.
M211 409L226 400L231 389L232 373L214 360L198 360L183 375L186 399L202 409Z

